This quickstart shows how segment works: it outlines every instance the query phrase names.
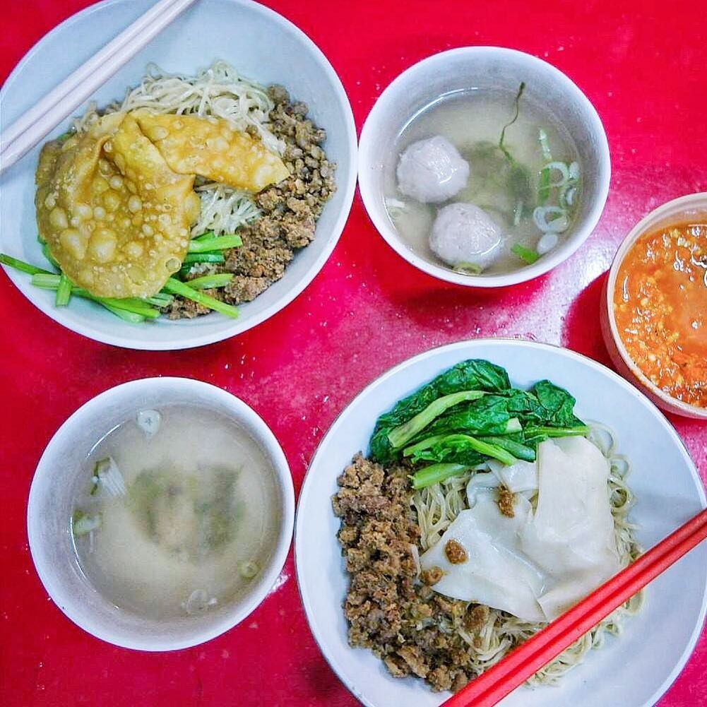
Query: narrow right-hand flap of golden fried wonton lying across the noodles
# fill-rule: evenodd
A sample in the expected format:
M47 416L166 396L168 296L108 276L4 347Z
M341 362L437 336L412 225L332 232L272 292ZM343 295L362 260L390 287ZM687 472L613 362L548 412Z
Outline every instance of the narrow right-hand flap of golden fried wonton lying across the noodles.
M289 176L283 161L262 141L233 130L221 118L136 112L144 134L180 174L201 175L234 189L259 192Z

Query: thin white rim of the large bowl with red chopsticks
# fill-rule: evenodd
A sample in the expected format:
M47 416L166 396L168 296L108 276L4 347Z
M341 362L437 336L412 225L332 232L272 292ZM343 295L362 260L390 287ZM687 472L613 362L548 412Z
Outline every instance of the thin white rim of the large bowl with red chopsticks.
M305 477L302 481L302 486L300 488L300 494L298 498L298 503L297 503L297 512L296 512L296 518L295 518L295 538L294 538L294 555L295 555L295 572L297 575L297 588L298 591L300 592L300 601L302 602L302 606L305 610L305 617L307 617L307 623L310 627L310 633L312 633L312 636L315 639L315 642L317 643L317 646L319 647L320 652L324 656L325 660L329 664L329 667L332 668L332 670L337 674L337 677L341 682L346 686L346 689L348 689L351 694L353 694L356 699L360 700L363 704L366 705L366 707L380 707L380 705L375 705L374 703L368 701L368 699L365 699L365 697L361 694L359 694L357 691L354 690L354 686L349 684L349 682L346 681L346 678L344 677L344 668L337 662L336 660L333 660L330 655L327 654L327 652L322 648L322 645L324 643L322 636L319 635L318 631L315 630L314 626L312 625L312 621L310 620L310 616L315 615L315 609L312 607L312 602L310 602L309 597L307 595L307 590L303 588L303 584L301 582L300 578L300 566L298 562L298 556L300 554L304 554L304 547L300 547L300 525L302 522L301 520L301 514L300 510L302 506L304 505L306 498L308 496L310 486L316 483L311 471L312 468L315 467L315 464L319 463L319 456L322 451L322 448L325 446L325 443L329 440L330 436L333 436L334 432L337 431L337 428L342 424L341 419L344 416L344 413L353 405L355 402L358 401L359 398L363 397L364 395L368 395L370 393L370 390L375 388L376 386L380 385L380 383L384 382L385 380L388 380L389 378L392 378L392 376L397 375L400 373L402 370L407 368L408 366L413 366L417 361L421 360L422 358L427 358L429 356L435 356L436 354L442 354L443 352L446 351L456 351L459 349L460 351L463 351L464 349L469 346L469 344L484 344L485 346L501 346L501 345L507 345L507 344L522 344L524 346L530 346L532 349L539 349L539 350L544 350L544 349L551 349L551 350L556 350L559 349L560 351L563 351L564 354L569 356L570 358L574 358L575 360L578 361L583 361L583 363L587 364L590 366L590 368L594 368L595 370L599 370L602 373L606 374L609 376L609 378L612 378L614 382L616 382L618 385L624 388L627 392L629 392L630 395L635 397L636 399L640 400L643 404L647 404L649 408L652 408L655 414L658 416L660 419L660 423L662 424L663 427L665 427L665 430L667 433L672 437L672 439L677 443L679 449L682 451L682 455L685 459L685 462L687 464L687 467L689 468L690 474L692 476L693 481L695 482L695 485L697 487L697 492L699 496L699 501L701 503L702 508L707 508L707 496L705 495L705 490L702 484L702 481L700 479L700 476L697 472L695 462L693 461L692 457L690 456L690 453L688 452L685 443L682 441L682 438L678 435L678 433L675 431L674 427L670 424L669 421L665 418L665 415L662 414L660 409L650 400L648 397L645 397L643 393L636 388L636 386L631 385L628 381L626 381L624 378L621 378L621 376L618 373L615 373L611 368L607 368L607 366L604 366L602 363L599 363L598 361L595 361L593 358L589 358L588 356L584 356L583 354L578 354L577 351L572 351L571 349L566 349L563 346L557 346L556 344L544 344L539 341L529 341L527 339L510 339L507 337L486 337L482 339L466 339L464 341L457 341L454 344L443 344L443 346L435 346L433 349L428 349L427 351L423 351L421 354L416 354L415 356L412 356L411 358L407 358L405 361L402 361L401 363L397 363L397 365L392 366L392 368L389 368L388 370L384 371L381 373L378 378L375 378L373 381L368 383L366 387L363 388L360 392L358 392L357 395L355 395L351 401L346 404L346 407L341 410L341 412L337 415L337 417L334 419L332 422L331 426L329 426L329 429L327 430L327 433L325 434L324 437L322 437L322 440L320 441L319 445L317 445L317 450L315 451L314 455L312 456L312 460L308 464L307 467L307 472L305 472ZM662 682L662 684L656 689L656 691L653 693L653 695L650 697L650 699L643 703L641 707L653 707L655 703L660 699L662 695L665 694L668 688L675 682L675 679L677 679L678 675L680 672L682 672L682 669L685 667L686 662L689 660L691 657L692 653L694 652L695 646L697 644L697 641L700 638L700 635L702 633L703 626L705 625L705 617L707 615L707 585L703 588L702 591L702 604L700 607L700 612L699 612L699 617L697 618L694 630L691 633L690 639L686 645L686 648L682 655L680 656L679 660L675 664L674 668L670 671L670 674L666 677L666 679ZM351 648L351 650L354 650L354 648Z

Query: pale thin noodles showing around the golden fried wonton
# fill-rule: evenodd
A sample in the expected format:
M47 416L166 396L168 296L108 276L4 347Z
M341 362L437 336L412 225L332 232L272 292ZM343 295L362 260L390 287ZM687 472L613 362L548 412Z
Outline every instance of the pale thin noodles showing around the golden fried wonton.
M168 74L156 64L148 64L139 86L130 88L122 103L112 103L100 112L91 103L86 113L74 120L74 129L85 132L102 115L139 109L157 114L216 117L228 120L242 132L255 129L264 146L282 155L285 144L269 129L273 108L267 90L238 74L227 62L214 62L194 76ZM195 191L201 199L201 213L192 226L194 237L206 231L214 235L234 233L260 215L250 194L227 185L201 180Z

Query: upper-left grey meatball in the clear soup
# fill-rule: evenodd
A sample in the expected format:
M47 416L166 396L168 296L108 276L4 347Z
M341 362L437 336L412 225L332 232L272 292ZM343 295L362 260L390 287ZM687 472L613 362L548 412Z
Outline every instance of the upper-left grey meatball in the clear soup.
M469 163L441 135L407 146L397 165L398 188L423 204L451 199L467 185Z

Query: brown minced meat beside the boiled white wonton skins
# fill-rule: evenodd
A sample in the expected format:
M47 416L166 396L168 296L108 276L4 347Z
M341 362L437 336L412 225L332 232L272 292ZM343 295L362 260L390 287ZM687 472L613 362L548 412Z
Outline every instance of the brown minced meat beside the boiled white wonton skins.
M474 636L489 609L433 592L428 585L441 571L418 580L411 546L420 530L407 474L357 455L339 477L332 503L351 576L344 602L349 643L373 650L395 677L417 675L434 690L457 691L474 677L472 649L449 628Z

